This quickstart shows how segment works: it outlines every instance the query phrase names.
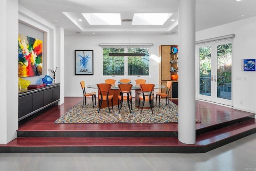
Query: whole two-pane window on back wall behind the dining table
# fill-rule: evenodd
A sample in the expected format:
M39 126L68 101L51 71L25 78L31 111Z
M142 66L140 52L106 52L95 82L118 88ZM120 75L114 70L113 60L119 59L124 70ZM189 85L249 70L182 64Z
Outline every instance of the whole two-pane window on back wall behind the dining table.
M145 56L108 56L109 53L144 53ZM149 48L103 48L103 76L149 76Z

